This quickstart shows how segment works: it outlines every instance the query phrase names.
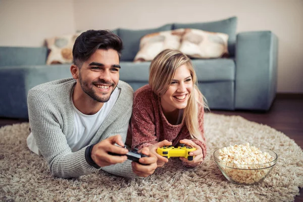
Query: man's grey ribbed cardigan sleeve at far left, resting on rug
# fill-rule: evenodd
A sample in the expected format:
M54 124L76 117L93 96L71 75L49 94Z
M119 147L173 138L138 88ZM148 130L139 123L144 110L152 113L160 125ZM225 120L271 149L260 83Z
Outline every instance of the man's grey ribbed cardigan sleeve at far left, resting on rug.
M30 90L28 94L29 123L39 151L53 176L71 178L89 174L96 169L85 160L86 147L72 153L55 99L40 90Z

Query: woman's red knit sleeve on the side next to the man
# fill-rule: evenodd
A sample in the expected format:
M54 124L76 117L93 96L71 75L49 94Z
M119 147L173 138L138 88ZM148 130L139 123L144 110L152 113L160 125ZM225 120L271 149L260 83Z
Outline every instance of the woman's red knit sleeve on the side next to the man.
M131 117L132 148L141 149L156 144L156 127L153 102L147 93L135 94Z

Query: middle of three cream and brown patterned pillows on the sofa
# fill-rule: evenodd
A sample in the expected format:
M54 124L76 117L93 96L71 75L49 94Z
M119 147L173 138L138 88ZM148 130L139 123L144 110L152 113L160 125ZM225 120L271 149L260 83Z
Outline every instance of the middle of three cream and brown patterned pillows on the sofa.
M178 30L170 30L143 36L140 39L140 48L134 62L151 61L161 51L168 48L177 50L181 41L181 35L178 32Z

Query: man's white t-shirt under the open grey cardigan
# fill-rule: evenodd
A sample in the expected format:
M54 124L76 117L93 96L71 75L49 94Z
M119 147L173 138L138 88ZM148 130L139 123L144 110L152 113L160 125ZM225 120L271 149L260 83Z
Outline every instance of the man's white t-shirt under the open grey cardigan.
M121 89L116 87L108 102L104 103L102 108L93 115L85 115L81 113L73 104L74 109L74 130L67 138L67 143L72 151L77 151L88 145L97 130L103 124L106 117L114 107ZM33 134L27 137L27 146L33 153L40 155Z

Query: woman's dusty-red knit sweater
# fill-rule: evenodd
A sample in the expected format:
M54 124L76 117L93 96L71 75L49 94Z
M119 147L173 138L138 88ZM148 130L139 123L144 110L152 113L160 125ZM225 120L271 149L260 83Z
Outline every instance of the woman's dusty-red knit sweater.
M191 139L201 147L204 159L206 157L206 143L203 106L199 106L198 110L199 129L204 141L190 137L185 121L179 125L170 124L163 114L160 97L151 90L149 85L142 86L134 93L133 111L126 143L131 144L132 148L140 149L165 139L171 141L173 146L178 146L182 139Z

